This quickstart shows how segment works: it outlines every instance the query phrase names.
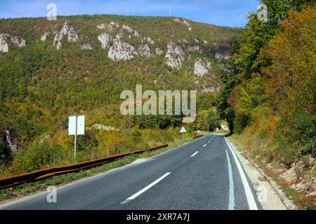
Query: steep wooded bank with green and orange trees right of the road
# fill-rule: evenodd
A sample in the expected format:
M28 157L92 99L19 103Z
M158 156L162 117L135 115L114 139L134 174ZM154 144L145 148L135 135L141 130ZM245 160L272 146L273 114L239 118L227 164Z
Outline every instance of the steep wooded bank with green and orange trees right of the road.
M315 3L261 2L268 21L251 13L231 57L218 64L225 83L218 111L248 156L282 177L288 193L291 187L309 194L310 201L294 198L301 207L315 208Z

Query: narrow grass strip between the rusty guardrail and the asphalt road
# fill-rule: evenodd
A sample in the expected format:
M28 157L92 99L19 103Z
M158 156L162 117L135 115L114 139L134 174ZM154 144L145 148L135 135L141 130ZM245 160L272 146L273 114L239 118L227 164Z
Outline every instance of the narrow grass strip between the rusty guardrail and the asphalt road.
M16 186L14 189L8 188L8 189L0 190L0 204L4 204L5 202L18 199L20 197L25 197L27 195L32 195L34 193L42 192L46 190L48 186L55 186L55 187L62 186L62 185L65 185L66 183L71 183L79 179L84 179L89 176L95 176L96 174L107 172L110 169L123 167L124 165L128 165L139 158L150 158L154 155L163 153L164 151L168 151L171 148L174 148L181 144L185 144L189 141L192 141L192 139L185 139L185 140L178 139L176 141L172 141L168 147L158 149L157 151L146 151L145 153L138 154L138 155L129 155L129 156L126 156L125 158L106 163L99 167L84 169L76 173L53 176L49 179L44 179L42 181L38 181L34 183L24 183L20 186Z

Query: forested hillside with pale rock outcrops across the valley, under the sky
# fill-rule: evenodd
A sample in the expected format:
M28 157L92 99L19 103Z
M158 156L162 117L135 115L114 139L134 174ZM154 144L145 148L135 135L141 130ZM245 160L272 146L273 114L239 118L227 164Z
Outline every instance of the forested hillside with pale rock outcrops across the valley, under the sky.
M183 18L0 20L0 176L180 138L181 116L122 116L120 93L135 92L136 84L198 90L197 112L210 110L221 85L215 64L240 31ZM74 114L86 116L77 160L67 137Z

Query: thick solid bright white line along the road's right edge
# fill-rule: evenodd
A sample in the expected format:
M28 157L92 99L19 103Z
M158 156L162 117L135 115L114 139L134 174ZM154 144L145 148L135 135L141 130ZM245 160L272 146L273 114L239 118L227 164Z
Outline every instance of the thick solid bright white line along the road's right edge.
M225 138L225 137L224 137ZM242 165L240 165L239 160L237 159L237 155L235 154L235 152L232 150L232 147L230 146L230 144L228 143L227 139L225 138L226 143L228 144L228 148L230 148L230 151L232 152L232 156L234 157L235 163L237 165L238 168L238 172L240 174L240 178L242 179L242 184L244 186L244 191L246 193L246 198L247 198L247 202L248 202L248 206L250 210L258 210L256 201L254 199L254 195L251 192L249 183L246 179L246 175L244 174L244 170L242 169Z

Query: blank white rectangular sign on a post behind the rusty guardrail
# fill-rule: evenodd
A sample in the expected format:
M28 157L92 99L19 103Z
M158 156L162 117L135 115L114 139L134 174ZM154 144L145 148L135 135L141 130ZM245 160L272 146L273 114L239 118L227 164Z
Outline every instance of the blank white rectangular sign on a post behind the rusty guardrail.
M77 152L77 135L84 134L84 116L69 116L68 135L74 135L74 158Z

